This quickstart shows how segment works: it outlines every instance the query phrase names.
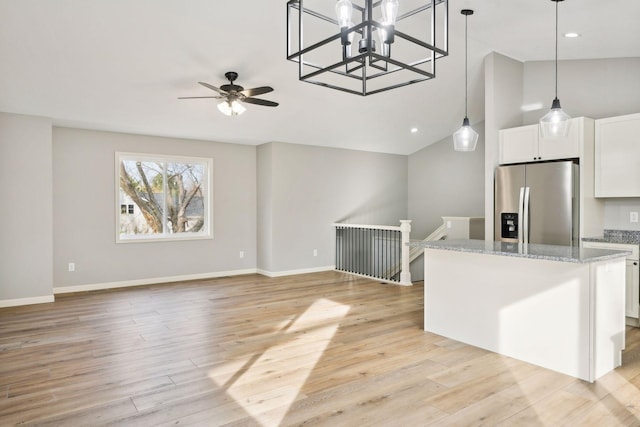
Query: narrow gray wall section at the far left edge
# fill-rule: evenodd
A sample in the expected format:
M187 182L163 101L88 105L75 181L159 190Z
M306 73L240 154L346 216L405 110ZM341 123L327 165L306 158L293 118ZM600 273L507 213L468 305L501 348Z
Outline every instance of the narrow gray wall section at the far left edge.
M0 113L0 301L53 295L51 121Z

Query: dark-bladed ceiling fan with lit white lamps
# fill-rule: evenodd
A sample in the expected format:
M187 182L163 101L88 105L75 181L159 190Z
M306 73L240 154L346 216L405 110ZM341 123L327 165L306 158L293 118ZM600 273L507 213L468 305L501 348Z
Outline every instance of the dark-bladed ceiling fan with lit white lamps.
M223 101L218 104L218 110L227 116L237 116L245 112L246 108L241 104L246 102L248 104L263 105L265 107L277 107L278 103L273 101L267 101L266 99L253 98L256 95L262 95L273 91L270 86L261 86L253 89L245 89L242 86L236 85L233 82L238 78L238 73L234 71L228 71L224 76L229 80L229 84L215 87L205 82L198 82L202 86L217 92L218 95L214 96L183 96L178 99L197 99L197 98L215 98L222 99Z

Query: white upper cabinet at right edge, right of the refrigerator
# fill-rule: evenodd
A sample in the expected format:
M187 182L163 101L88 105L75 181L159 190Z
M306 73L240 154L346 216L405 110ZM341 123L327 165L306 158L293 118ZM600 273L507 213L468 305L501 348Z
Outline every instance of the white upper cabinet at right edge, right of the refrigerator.
M640 197L640 114L596 120L596 197Z

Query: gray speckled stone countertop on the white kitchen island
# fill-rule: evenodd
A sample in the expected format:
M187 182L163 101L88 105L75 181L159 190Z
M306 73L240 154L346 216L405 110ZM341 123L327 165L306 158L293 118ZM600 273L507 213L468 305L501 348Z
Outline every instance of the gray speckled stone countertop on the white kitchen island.
M538 245L532 243L491 242L485 240L436 240L431 242L415 242L411 243L411 246L486 255L573 262L578 264L624 258L631 254L629 251L580 248L575 246Z

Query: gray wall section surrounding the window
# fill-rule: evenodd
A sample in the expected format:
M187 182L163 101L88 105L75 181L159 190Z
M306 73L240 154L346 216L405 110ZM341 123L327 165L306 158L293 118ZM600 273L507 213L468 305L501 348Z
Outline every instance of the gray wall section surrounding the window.
M68 128L53 141L56 287L255 269L255 147ZM213 158L214 238L116 244L117 151Z

